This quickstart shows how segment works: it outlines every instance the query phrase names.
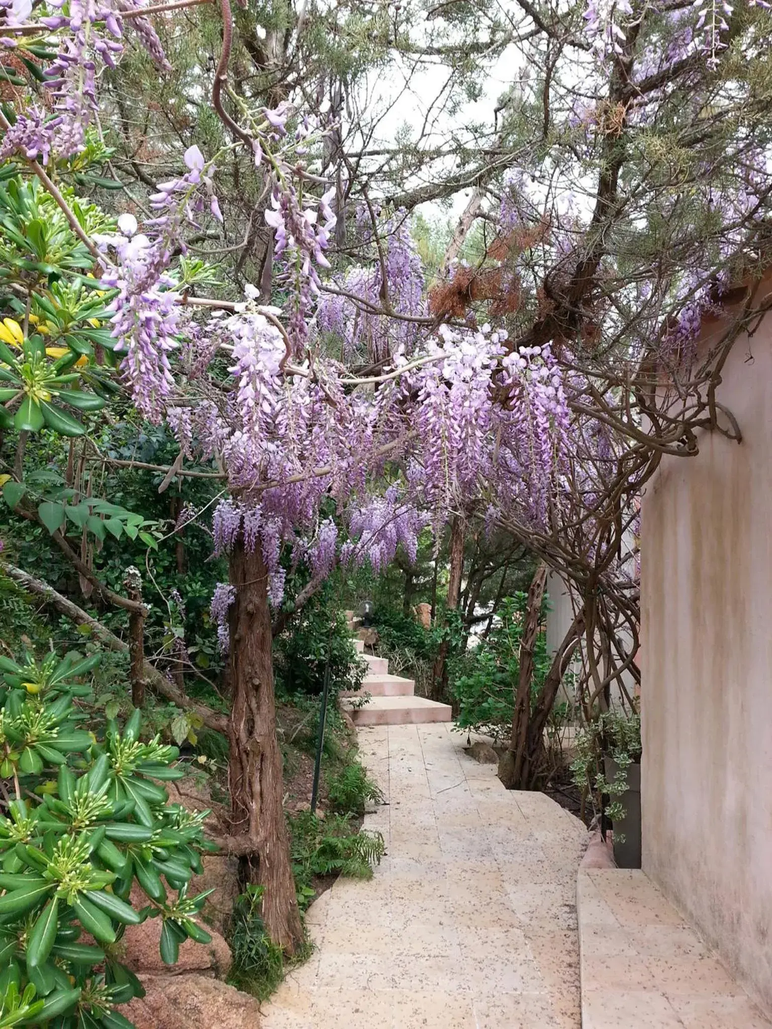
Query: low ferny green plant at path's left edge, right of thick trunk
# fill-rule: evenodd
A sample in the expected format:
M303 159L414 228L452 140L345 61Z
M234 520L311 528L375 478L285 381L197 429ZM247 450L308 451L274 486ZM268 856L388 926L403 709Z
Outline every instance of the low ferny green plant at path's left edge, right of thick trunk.
M373 865L386 853L380 832L357 831L349 815L328 815L321 819L310 811L289 818L292 872L297 899L303 909L315 896L317 876L350 876L370 879Z

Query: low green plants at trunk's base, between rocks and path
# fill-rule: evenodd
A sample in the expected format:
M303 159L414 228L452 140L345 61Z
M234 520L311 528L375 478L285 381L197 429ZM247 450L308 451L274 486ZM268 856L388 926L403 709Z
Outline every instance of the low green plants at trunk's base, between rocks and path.
M233 964L229 983L267 1000L284 978L284 956L271 942L262 921L261 886L247 886L234 904L226 926Z

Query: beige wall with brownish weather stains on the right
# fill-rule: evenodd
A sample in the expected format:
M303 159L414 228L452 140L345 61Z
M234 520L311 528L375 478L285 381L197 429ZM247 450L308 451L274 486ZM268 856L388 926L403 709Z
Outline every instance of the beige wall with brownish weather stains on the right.
M742 443L702 433L642 503L643 867L772 1010L772 316L718 399Z

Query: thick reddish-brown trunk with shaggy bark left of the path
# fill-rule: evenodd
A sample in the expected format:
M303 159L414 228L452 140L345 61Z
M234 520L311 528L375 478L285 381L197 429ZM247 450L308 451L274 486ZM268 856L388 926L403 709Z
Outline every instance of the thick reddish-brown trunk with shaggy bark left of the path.
M303 943L289 836L282 797L282 756L276 739L273 640L268 570L259 545L248 552L239 537L231 556L229 778L233 832L246 836L257 855L250 875L265 894L262 919L271 939L292 954Z

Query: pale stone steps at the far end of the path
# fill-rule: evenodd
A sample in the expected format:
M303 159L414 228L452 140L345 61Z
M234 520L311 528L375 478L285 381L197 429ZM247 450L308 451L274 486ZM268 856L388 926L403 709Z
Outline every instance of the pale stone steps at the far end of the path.
M357 629L353 612L347 611L349 628L354 636L354 648L370 666L362 680L361 688L345 693L341 697L341 707L347 711L355 725L413 725L432 721L451 721L449 704L416 697L413 679L389 673L389 663L385 658L376 658L364 652L366 630ZM358 698L370 694L366 704L359 706Z

